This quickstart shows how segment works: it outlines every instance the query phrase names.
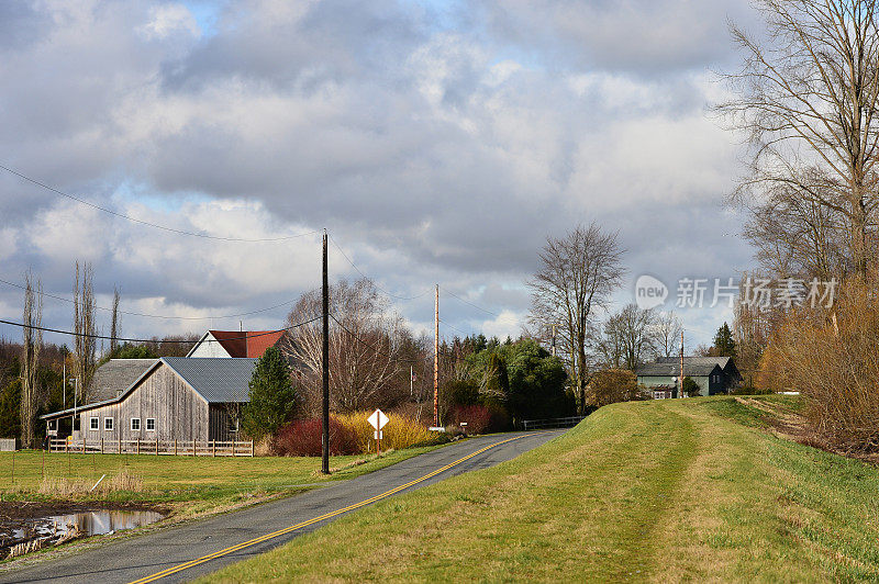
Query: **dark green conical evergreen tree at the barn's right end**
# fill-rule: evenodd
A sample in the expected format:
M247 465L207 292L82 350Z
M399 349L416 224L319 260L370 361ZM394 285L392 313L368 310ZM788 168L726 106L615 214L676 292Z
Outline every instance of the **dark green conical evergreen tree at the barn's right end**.
M251 379L251 401L242 407L242 429L255 440L275 434L296 413L297 394L281 351L269 347Z

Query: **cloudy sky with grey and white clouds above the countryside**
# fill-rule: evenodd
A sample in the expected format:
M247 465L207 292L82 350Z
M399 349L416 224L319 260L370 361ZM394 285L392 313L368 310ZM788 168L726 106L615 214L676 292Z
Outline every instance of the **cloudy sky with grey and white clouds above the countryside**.
M649 273L731 277L739 137L709 112L747 0L0 3L0 279L98 304L126 336L272 328L320 283L320 235L416 328L515 335L549 235L619 231ZM356 278L335 247L332 278ZM469 301L466 304L457 297ZM21 319L0 283L0 315ZM478 307L477 307L478 306ZM728 311L682 313L706 341ZM108 313L99 314L104 332ZM46 325L71 306L45 300ZM0 335L20 332L0 326Z

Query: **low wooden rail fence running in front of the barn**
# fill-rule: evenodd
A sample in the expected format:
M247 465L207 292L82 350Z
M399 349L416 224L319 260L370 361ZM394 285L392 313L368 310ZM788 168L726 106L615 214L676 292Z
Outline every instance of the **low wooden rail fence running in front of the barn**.
M51 452L79 452L100 454L153 454L178 457L253 457L254 442L215 440L74 440L53 438Z

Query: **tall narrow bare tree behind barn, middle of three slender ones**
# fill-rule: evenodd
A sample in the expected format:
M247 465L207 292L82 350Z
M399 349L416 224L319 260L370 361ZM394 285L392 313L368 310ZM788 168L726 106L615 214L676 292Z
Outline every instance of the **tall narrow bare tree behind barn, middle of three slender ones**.
M91 380L94 375L96 328L94 328L94 271L91 263L76 262L74 280L74 373L80 391L80 400L88 400Z

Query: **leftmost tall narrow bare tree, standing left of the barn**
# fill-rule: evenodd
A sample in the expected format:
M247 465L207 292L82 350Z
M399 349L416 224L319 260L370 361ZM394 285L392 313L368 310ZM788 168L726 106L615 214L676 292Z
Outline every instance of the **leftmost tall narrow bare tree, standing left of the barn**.
M43 284L36 280L34 297L33 276L24 274L24 339L22 344L22 388L21 388L21 442L24 448L34 448L38 383L37 368L40 350L43 347Z

